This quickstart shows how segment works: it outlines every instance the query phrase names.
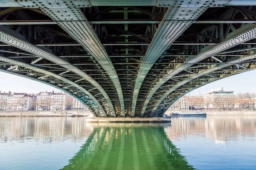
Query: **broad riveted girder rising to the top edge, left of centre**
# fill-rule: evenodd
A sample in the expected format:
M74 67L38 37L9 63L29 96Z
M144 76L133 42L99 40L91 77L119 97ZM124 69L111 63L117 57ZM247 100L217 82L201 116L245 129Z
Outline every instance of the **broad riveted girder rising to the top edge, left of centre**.
M31 2L17 0L17 3L22 5L24 8L31 7ZM34 4L34 6L40 6L41 10L44 11L45 14L51 17L52 20L54 20L61 28L63 28L64 31L70 34L71 37L73 37L79 44L81 44L82 47L86 49L96 59L97 62L99 62L99 64L107 72L113 84L115 85L117 94L119 96L122 116L125 116L125 105L119 77L116 74L116 70L105 48L103 47L95 31L90 26L90 23L80 9L81 7L90 6L90 2L88 0L55 0L54 3L49 3L48 1L41 0L40 2L34 1L32 4ZM101 92L102 94L105 93L105 91ZM106 96L107 94L104 95ZM110 105L112 105L109 99L107 99L107 101ZM115 111L113 110L112 106L111 110L115 116Z

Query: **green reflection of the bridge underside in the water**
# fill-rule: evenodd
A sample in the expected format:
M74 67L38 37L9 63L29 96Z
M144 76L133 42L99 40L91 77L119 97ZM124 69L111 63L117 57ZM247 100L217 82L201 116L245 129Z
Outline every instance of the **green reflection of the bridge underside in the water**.
M96 127L63 170L194 169L167 139L165 125Z

